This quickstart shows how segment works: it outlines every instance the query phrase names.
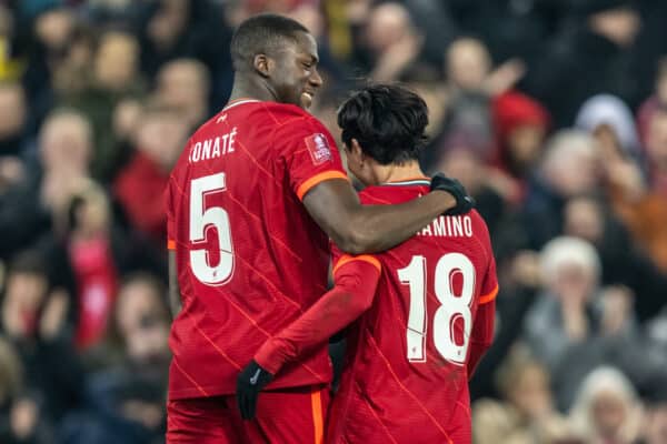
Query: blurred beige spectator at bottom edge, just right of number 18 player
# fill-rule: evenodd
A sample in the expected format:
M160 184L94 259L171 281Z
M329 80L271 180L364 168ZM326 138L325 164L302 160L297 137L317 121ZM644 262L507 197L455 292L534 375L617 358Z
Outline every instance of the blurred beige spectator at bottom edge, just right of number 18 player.
M526 350L515 347L498 369L501 401L472 405L475 444L556 443L568 436L566 418L555 408L549 373Z

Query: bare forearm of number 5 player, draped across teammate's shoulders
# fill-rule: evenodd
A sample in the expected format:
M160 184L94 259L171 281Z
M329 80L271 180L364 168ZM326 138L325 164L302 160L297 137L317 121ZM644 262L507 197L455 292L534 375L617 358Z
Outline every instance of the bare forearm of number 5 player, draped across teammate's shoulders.
M398 205L362 205L354 216L352 254L388 250L406 241L445 211L456 206L449 193L430 192ZM342 249L345 250L345 249Z

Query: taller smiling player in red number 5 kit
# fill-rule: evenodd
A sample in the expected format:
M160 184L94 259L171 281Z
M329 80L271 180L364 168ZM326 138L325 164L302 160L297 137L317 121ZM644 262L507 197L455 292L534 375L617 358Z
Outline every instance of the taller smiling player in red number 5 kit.
M252 356L326 291L329 238L344 251L381 251L470 204L446 178L402 205L360 204L331 135L305 111L321 78L315 39L298 22L250 18L231 56L231 100L188 141L166 192L178 313L167 441L320 443L326 345L268 385ZM250 392L266 385L252 421L237 407L237 380Z

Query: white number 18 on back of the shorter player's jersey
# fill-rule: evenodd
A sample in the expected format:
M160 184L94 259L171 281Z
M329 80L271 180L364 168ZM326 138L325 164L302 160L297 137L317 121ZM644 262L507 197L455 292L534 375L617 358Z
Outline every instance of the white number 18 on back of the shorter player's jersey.
M461 294L455 295L452 280L460 273ZM410 287L408 314L408 361L426 362L426 259L412 256L405 269L398 270L398 279ZM440 306L434 315L434 344L447 361L462 365L466 362L472 313L470 304L475 293L475 266L461 253L445 254L436 264L435 291ZM455 337L455 323L464 323L462 341Z

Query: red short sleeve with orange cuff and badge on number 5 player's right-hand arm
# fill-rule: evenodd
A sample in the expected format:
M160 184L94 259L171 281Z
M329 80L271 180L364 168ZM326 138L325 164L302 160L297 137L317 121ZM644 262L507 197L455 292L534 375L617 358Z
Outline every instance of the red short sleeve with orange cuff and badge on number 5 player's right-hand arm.
M290 186L299 200L322 181L348 180L334 138L311 115L282 122L273 133L273 143L281 151Z

